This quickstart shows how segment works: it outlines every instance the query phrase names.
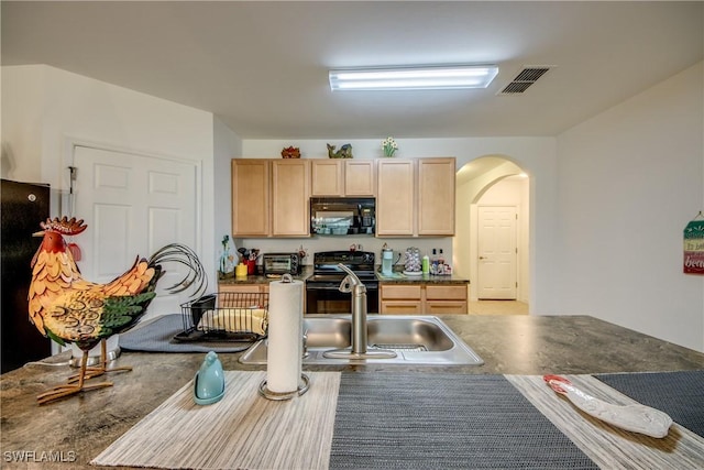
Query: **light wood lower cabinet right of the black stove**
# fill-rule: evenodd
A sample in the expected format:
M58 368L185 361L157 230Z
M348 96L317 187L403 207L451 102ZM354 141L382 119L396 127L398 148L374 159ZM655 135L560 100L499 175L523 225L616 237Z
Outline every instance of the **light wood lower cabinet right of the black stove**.
M380 283L380 314L466 315L466 284Z

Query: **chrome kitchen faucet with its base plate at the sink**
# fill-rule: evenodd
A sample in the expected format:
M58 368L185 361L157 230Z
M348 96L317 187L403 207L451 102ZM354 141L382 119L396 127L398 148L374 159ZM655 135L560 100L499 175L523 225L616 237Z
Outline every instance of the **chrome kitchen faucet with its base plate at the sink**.
M330 359L391 359L396 352L384 349L367 350L366 327L366 286L344 264L338 264L348 275L340 283L340 292L352 294L352 347L349 349L336 349L326 351L323 357Z

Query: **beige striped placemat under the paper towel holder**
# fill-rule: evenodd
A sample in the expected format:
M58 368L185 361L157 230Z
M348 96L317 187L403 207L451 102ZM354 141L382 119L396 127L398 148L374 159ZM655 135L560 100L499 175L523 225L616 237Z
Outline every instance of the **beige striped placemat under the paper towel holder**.
M226 394L194 403L193 381L96 457L99 466L166 469L327 469L339 372L307 372L290 401L258 395L266 372L226 372Z

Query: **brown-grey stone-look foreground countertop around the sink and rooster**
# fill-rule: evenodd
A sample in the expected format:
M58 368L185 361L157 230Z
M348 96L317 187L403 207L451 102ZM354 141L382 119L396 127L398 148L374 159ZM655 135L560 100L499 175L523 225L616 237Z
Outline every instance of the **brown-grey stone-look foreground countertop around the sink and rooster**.
M452 372L469 374L582 374L704 369L704 353L587 316L464 316L440 318L485 361L480 367L305 365L308 371ZM243 365L240 353L220 353L226 370ZM75 372L70 352L0 376L3 452L34 452L34 463L3 468L95 468L88 462L194 378L202 353L123 352L108 374L113 386L38 406L36 395ZM100 379L94 379L100 380ZM41 461L61 452L63 462ZM56 456L57 453L55 453ZM4 456L4 453L3 453Z

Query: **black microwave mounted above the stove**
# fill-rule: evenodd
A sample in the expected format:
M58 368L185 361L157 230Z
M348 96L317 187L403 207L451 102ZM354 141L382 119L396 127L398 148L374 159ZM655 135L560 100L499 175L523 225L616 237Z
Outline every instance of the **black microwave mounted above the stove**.
M310 233L321 236L374 234L373 197L311 197Z

